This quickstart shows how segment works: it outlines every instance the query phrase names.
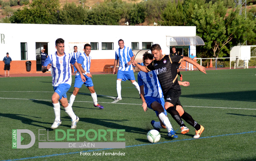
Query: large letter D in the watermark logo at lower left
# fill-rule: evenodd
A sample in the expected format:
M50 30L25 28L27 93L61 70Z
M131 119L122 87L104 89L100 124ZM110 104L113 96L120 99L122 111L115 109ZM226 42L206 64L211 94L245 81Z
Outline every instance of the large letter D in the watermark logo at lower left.
M21 133L27 133L30 135L31 137L31 141L29 144L27 145L21 145L21 141L23 140L23 138L21 137ZM21 140L22 138L22 140ZM31 146L34 145L34 142L36 141L36 137L34 135L34 133L30 130L27 129L17 129L17 149L27 149L30 148Z

